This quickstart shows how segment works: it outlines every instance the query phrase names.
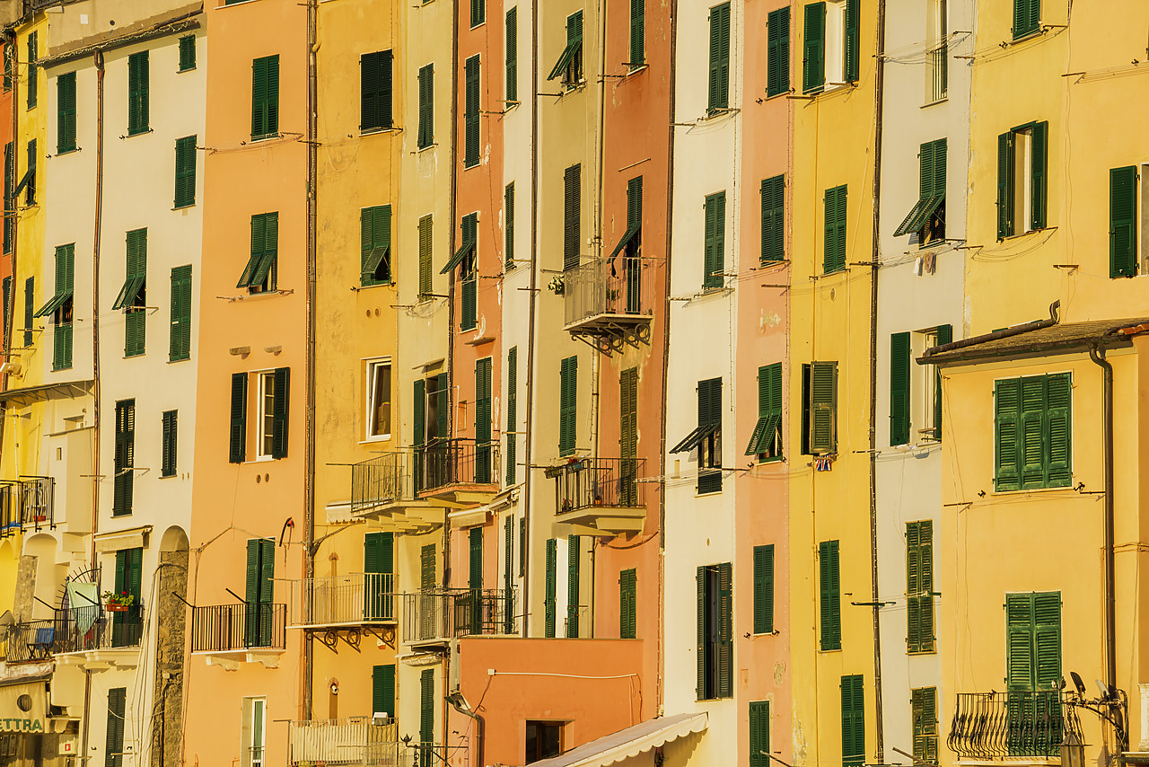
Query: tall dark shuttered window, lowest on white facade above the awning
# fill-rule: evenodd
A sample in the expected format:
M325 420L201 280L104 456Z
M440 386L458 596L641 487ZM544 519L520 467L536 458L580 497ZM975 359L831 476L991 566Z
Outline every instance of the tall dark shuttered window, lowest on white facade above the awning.
M700 567L696 581L697 699L730 698L734 695L730 562Z

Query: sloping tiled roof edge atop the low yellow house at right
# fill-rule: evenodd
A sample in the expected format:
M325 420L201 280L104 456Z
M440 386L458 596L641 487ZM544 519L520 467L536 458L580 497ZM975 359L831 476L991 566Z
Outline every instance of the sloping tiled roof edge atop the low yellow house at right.
M1131 336L1146 330L1149 330L1149 317L1047 324L1012 333L1007 329L928 348L918 358L918 365L947 365L1050 352L1080 352L1094 344L1102 347L1128 346Z

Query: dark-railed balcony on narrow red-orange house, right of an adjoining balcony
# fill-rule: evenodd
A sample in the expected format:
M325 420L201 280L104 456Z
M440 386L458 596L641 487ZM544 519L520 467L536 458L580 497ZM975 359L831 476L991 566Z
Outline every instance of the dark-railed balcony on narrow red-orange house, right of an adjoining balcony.
M463 507L487 504L499 492L499 443L440 439L415 450L419 498Z

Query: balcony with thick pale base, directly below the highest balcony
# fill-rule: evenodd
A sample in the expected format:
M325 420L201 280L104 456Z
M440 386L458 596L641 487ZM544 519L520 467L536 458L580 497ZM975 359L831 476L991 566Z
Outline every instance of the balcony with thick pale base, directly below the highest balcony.
M646 516L646 473L641 458L579 458L547 469L556 481L556 521L579 534L639 532Z

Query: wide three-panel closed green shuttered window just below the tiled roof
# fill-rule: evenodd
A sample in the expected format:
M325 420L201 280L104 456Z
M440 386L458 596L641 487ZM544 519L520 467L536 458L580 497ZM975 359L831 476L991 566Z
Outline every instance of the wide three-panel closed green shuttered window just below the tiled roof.
M1069 488L1069 373L994 382L994 490Z

